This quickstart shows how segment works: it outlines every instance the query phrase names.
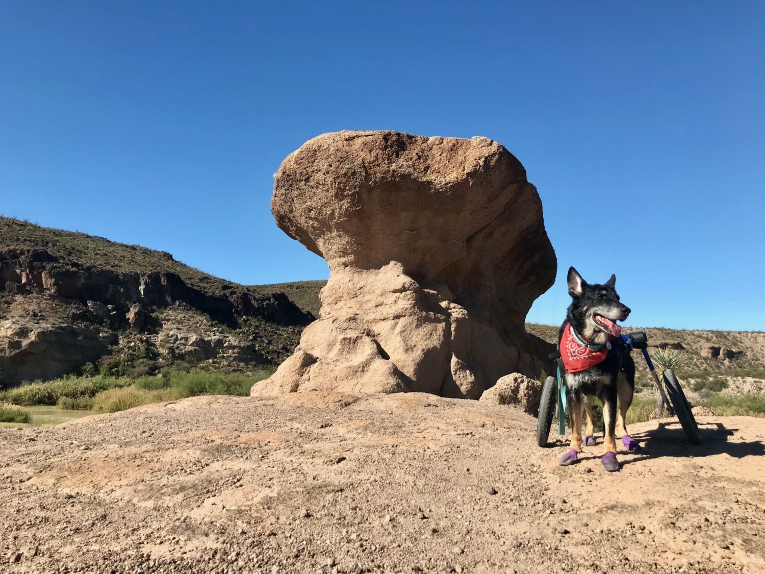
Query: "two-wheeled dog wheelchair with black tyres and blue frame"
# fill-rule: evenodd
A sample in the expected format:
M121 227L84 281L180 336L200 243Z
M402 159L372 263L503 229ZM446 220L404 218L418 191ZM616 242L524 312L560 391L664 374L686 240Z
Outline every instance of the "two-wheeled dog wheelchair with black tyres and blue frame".
M627 335L623 334L621 338L623 344L627 347L627 351L631 352L633 349L643 351L643 357L645 357L648 369L651 371L653 380L659 388L663 404L669 409L670 416L677 416L680 426L682 426L685 436L688 438L688 442L692 445L698 445L702 441L701 436L698 434L698 424L691 412L691 405L685 399L685 393L682 392L682 387L677 377L675 377L675 373L672 373L671 369L665 370L662 374L662 384L662 381L659 380L659 376L656 374L656 369L653 367L653 360L651 360L651 356L648 354L648 337L643 331ZM536 422L536 443L539 446L547 445L553 420L558 421L558 435L564 435L566 427L566 387L560 364L560 353L552 354L550 358L558 360L558 376L547 377L545 384L542 386L542 399L539 401L539 416Z

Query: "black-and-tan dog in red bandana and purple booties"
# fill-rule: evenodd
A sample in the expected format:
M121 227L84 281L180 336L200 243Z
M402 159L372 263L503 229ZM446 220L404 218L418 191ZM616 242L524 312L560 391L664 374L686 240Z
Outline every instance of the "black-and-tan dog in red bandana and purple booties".
M621 327L617 325L617 321L627 319L630 308L619 300L619 294L614 289L615 275L603 285L590 285L571 267L567 282L571 305L558 331L558 348L568 390L567 399L571 404L573 429L570 450L562 456L559 464L568 466L575 463L581 452L583 407L587 411L584 445L596 444L592 398L597 396L603 405L605 426L601 464L607 471L618 471L617 434L621 435L628 451L640 450L640 445L630 438L624 424L635 391L635 363L621 338Z

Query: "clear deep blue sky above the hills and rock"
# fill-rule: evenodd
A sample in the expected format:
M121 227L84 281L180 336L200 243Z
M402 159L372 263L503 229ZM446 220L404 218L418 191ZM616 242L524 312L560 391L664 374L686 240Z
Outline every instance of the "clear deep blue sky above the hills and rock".
M0 213L247 284L324 279L273 174L340 129L484 135L558 281L632 325L765 329L763 2L2 2Z

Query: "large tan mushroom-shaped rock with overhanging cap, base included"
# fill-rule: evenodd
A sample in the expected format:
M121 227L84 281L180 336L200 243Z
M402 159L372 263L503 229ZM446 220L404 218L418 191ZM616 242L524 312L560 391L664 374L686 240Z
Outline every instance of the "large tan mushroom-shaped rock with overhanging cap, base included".
M306 390L480 397L536 377L527 334L555 252L526 170L487 138L319 135L275 175L278 227L327 259L321 318L253 396Z

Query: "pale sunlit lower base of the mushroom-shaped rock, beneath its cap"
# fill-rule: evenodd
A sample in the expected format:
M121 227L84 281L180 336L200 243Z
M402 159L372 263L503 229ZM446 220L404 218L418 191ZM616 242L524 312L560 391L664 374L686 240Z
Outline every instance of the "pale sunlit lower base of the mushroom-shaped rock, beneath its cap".
M444 283L418 283L393 262L336 269L321 292L321 319L253 396L308 390L417 391L478 399L506 373L536 376L547 344L513 344L490 316L459 305ZM543 350L542 350L543 351Z

